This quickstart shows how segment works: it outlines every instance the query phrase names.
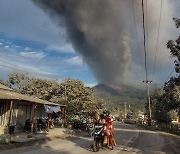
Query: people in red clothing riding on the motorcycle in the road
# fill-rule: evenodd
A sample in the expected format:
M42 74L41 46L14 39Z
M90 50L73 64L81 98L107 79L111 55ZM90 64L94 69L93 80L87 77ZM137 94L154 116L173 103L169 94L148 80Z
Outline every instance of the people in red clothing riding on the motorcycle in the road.
M114 138L113 120L113 116L110 114L110 111L108 110L104 110L99 118L99 123L103 124L104 144L106 144L109 148L113 148L114 146L116 146Z

